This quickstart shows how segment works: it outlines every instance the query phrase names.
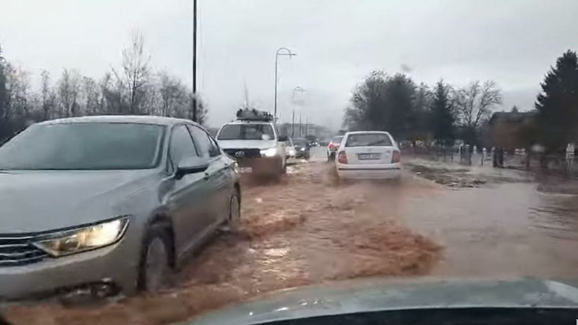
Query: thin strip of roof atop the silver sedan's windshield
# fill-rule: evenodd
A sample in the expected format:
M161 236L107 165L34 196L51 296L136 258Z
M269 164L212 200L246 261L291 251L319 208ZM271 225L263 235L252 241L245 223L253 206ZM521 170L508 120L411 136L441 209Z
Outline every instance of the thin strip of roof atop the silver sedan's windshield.
M179 123L196 124L191 120L175 119L174 117L151 116L151 115L99 115L99 116L66 117L65 119L43 121L40 122L39 124L58 124L58 123L139 123L139 124L157 124L157 125L173 125Z

